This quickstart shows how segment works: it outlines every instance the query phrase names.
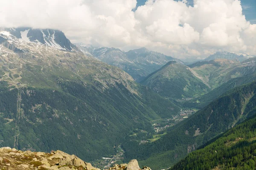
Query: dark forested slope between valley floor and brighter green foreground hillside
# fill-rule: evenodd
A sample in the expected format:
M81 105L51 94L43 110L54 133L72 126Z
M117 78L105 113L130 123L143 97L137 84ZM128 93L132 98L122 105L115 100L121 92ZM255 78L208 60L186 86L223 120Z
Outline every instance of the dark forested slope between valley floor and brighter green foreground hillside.
M201 111L170 127L161 139L125 148L126 158L140 159L154 169L170 167L210 139L225 132L256 112L256 82L234 88ZM137 154L139 153L139 154Z

